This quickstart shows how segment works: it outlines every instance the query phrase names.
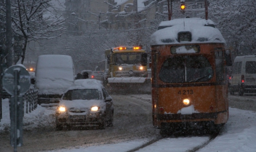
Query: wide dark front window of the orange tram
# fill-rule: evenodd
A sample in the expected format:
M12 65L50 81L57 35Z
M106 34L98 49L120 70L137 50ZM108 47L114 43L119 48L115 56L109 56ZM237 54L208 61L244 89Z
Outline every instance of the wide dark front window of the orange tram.
M159 73L159 78L165 83L206 82L212 76L211 64L203 55L168 58Z

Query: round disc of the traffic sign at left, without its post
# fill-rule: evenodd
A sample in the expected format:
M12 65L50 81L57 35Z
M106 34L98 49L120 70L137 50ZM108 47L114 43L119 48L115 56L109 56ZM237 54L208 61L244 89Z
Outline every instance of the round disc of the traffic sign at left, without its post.
M14 95L14 70L19 73L18 77L18 95L24 95L30 87L30 75L28 71L19 65L11 66L8 68L3 76L3 87L5 91L11 95Z

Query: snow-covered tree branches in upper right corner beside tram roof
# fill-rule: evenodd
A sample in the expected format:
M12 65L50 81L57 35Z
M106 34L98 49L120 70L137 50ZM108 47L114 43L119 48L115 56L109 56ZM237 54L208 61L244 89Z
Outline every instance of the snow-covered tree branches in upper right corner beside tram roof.
M256 1L210 0L209 14L225 37L236 49L247 46L256 53Z

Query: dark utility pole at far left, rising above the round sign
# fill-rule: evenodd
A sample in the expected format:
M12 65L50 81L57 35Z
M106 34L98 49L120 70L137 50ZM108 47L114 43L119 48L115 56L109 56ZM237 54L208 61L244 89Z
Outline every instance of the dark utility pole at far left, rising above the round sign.
M11 19L11 0L6 0L6 49L7 55L7 67L12 66L12 19Z

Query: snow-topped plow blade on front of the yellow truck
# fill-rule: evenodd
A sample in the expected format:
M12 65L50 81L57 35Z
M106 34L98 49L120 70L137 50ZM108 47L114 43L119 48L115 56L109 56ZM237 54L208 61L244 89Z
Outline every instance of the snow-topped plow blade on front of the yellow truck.
M114 94L149 94L151 81L146 77L113 77L108 78L106 88Z

